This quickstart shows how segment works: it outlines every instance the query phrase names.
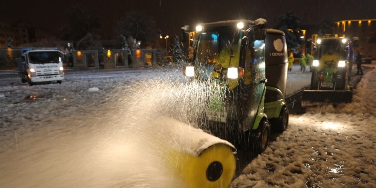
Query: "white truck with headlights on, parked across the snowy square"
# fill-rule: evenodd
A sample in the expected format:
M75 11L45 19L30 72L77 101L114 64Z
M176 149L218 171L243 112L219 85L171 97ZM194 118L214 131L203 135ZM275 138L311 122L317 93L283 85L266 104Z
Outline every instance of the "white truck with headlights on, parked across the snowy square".
M23 48L17 70L22 83L56 82L64 79L63 52L57 48Z

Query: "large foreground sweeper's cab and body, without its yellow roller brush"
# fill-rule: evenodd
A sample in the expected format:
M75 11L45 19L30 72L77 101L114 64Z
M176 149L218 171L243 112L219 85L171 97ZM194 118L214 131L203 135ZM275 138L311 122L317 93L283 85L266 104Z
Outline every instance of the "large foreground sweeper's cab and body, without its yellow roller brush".
M182 27L193 49L183 74L202 90L205 106L190 114L192 121L257 152L266 149L271 128L282 132L288 125L285 35L265 25L259 18L203 23L194 32Z

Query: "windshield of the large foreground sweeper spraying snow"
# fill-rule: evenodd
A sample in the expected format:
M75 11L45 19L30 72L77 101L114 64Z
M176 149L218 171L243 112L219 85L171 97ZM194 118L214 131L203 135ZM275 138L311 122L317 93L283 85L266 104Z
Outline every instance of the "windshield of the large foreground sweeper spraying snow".
M239 58L235 56L240 53L240 41L243 33L230 27L215 27L200 33L197 41L195 64L200 69L199 72L202 73L201 76L204 79L210 76L217 61L230 59L223 66L225 68L229 67L230 63L239 61ZM232 58L228 58L230 56Z

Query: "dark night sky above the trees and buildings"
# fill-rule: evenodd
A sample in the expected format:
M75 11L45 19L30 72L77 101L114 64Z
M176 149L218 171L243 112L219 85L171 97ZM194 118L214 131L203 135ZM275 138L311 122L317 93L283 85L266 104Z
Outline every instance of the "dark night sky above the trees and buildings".
M268 27L274 27L274 18L289 11L302 18L302 25L320 24L324 18L333 22L376 18L376 0L2 0L0 22L13 24L23 20L59 36L66 22L65 10L76 2L98 13L102 38L110 38L115 21L131 10L152 16L161 32L168 35L180 35L180 27L185 24L194 28L200 22L240 18L262 17L268 20Z

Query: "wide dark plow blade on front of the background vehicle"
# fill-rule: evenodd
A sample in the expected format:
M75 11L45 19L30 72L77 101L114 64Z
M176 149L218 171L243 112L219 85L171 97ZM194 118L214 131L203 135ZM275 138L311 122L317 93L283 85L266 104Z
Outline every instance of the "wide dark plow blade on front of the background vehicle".
M302 96L302 107L350 103L351 100L352 91L304 90Z

